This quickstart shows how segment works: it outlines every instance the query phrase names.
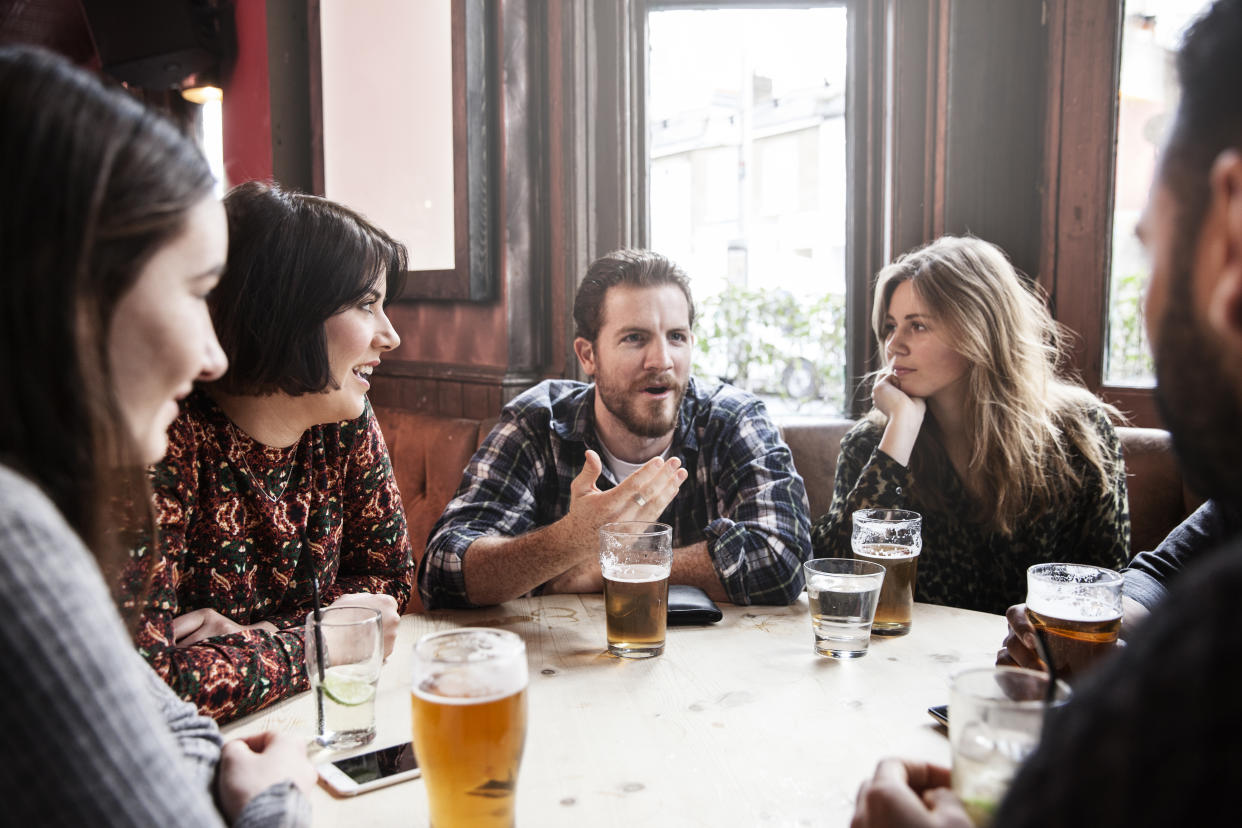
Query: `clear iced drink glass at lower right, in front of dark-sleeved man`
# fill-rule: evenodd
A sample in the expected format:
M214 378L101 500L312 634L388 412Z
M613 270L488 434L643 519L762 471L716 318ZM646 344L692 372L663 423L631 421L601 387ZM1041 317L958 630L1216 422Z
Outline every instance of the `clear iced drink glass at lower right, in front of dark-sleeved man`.
M1040 742L1048 705L1069 699L1069 686L1020 667L984 667L953 678L949 690L949 746L953 792L971 822L987 826L1018 766Z

